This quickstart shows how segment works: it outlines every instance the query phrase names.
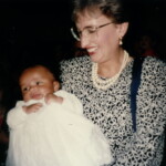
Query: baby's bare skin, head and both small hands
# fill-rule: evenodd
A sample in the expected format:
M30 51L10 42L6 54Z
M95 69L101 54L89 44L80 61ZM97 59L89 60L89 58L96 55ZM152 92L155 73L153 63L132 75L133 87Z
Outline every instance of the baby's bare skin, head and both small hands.
M44 97L45 103L62 103L63 98L55 96L53 93L60 89L60 84L54 80L53 74L44 66L38 65L29 68L20 76L20 87L24 102L30 100L41 100ZM24 112L37 112L42 106L41 103L23 106Z

